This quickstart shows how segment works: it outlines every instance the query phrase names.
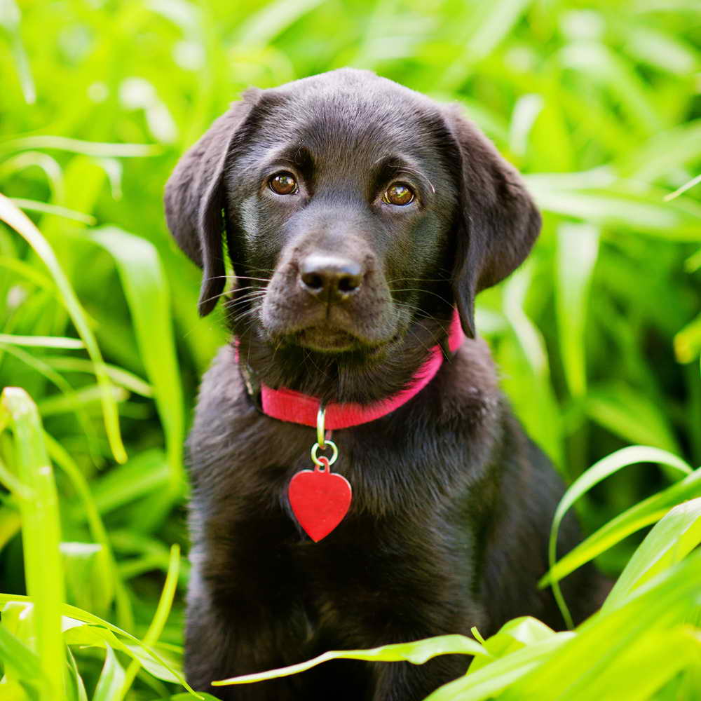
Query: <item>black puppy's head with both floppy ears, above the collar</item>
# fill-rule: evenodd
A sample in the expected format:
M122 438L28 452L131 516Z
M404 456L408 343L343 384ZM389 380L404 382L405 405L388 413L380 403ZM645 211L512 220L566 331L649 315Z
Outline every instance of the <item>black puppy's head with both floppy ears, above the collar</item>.
M316 367L376 365L430 320L440 336L454 306L473 337L475 295L540 229L517 172L456 109L351 69L248 90L179 162L165 212L203 268L200 314L226 250L237 334Z

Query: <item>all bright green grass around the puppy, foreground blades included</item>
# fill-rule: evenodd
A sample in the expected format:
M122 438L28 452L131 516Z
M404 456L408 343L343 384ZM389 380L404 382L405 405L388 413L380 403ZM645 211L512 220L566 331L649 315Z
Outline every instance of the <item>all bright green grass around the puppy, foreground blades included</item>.
M197 317L163 184L247 86L344 65L460 103L526 174L543 233L477 325L571 484L553 532L575 508L590 533L543 586L592 558L620 579L573 632L327 656L475 655L432 701L697 697L700 18L693 0L0 0L0 388L21 388L0 401L0 697L189 697L182 443L225 336Z

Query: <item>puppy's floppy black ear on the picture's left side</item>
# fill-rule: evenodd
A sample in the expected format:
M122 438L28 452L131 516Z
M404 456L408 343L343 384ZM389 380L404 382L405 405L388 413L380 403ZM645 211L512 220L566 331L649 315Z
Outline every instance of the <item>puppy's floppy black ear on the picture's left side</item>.
M165 184L165 220L179 247L203 270L198 310L217 304L226 282L222 234L226 222L224 168L261 95L252 88L234 102L180 159Z

